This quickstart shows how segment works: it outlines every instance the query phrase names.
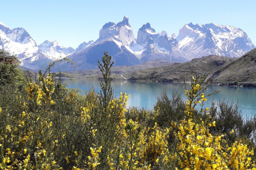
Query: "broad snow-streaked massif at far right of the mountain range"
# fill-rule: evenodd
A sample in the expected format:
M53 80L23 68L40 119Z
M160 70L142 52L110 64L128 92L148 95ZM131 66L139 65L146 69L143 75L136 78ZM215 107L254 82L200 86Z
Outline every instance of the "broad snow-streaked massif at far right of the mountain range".
M180 50L190 59L212 54L237 58L255 48L240 28L215 23L185 24L177 40Z

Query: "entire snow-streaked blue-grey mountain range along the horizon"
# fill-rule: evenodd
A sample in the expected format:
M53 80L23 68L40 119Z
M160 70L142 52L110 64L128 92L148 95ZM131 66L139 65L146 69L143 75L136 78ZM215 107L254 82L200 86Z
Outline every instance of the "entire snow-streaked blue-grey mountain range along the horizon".
M178 36L157 33L150 23L143 24L135 39L129 19L103 25L96 41L82 42L76 49L63 47L57 41L44 41L37 45L23 28L9 29L0 22L0 49L17 55L23 67L33 70L47 62L68 56L81 68L97 68L97 60L108 51L114 66L137 65L156 59L187 62L208 55L238 58L255 48L247 34L240 28L210 24L185 24ZM74 70L66 63L62 70Z

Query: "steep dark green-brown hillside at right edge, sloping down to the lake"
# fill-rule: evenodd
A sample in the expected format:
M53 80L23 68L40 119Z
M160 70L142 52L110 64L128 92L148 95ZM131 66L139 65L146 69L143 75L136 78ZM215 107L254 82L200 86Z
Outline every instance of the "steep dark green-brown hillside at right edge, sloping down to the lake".
M256 49L218 70L211 78L221 82L256 83Z

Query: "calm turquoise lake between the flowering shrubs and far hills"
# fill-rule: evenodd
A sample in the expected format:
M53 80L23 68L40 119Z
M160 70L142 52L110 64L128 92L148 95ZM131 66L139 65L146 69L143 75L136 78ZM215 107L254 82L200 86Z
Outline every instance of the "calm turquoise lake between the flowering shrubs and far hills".
M69 87L79 87L81 90L89 90L92 86L96 92L100 92L101 89L99 80L75 79L74 84L70 83L70 81L69 84ZM166 89L168 96L171 96L173 90L178 90L178 92L184 94L183 83L112 81L111 84L117 97L120 95L120 92L130 94L127 107L135 106L153 109L156 102L155 95L160 94L163 89ZM210 107L212 99L218 101L225 98L225 101L232 102L234 100L235 103L238 102L239 109L242 110L244 116L256 114L256 88L210 85L205 94L213 93L215 90L221 92L208 97L207 102L205 102L206 107ZM183 98L186 99L185 95L183 95Z

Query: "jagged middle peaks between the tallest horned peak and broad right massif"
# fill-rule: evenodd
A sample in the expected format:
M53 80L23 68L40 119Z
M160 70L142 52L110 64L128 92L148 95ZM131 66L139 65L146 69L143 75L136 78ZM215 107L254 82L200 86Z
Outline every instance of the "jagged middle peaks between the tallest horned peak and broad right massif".
M137 41L130 49L142 62L154 59L186 62L188 58L178 49L178 41L168 37L166 31L156 33L150 23L144 24L138 31Z

